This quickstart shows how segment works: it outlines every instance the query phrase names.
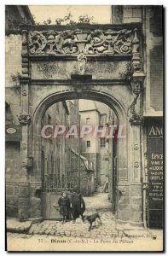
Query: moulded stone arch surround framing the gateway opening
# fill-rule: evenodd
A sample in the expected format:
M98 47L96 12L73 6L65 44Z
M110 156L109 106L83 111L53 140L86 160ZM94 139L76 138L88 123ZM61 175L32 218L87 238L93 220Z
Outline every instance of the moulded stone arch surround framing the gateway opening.
M43 96L41 96L38 101L35 103L36 106L32 119L32 157L33 157L33 179L38 182L38 185L41 183L41 119L43 113L46 111L49 106L55 102L61 102L68 99L88 99L98 102L103 102L107 104L110 108L113 109L113 112L116 114L119 124L125 124L125 129L127 129L127 117L125 113L124 104L119 102L119 99L112 96L109 90L90 90L90 89L72 89L72 90L62 90L62 91L48 91ZM124 191L128 190L129 187L129 173L128 173L128 157L127 157L127 139L119 138L118 139L118 192L120 189ZM121 188L120 188L121 184ZM42 185L42 184L41 184ZM130 190L130 189L129 189ZM121 192L119 192L121 193ZM130 196L130 195L129 195ZM119 201L119 199L118 199ZM128 221L130 212L130 206L125 206L126 209L122 209L118 214L118 218L122 218ZM125 215L125 212L127 214Z

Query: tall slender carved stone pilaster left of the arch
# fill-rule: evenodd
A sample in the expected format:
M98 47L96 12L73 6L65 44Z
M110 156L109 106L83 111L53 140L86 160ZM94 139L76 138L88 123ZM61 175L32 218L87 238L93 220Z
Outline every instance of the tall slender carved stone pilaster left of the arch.
M29 218L30 209L30 185L27 173L27 145L28 145L28 125L31 121L29 115L29 70L28 70L28 52L27 52L27 32L22 31L22 75L20 77L21 86L21 113L18 117L21 125L22 139L20 143L20 183L19 183L19 218L24 220Z

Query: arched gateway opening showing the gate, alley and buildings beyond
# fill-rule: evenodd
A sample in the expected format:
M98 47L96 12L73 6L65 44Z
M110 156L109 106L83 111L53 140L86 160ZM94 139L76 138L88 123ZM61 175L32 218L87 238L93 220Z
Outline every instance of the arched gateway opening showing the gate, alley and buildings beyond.
M92 100L55 102L43 113L44 219L60 218L56 205L61 192L71 196L76 187L83 196L106 193L115 214L118 127L113 109Z

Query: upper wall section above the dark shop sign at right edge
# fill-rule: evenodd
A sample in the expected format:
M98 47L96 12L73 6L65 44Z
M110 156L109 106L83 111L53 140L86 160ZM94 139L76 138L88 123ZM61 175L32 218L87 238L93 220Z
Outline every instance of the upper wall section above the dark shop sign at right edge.
M146 79L146 112L163 111L163 65L164 65L164 52L163 52L163 24L162 14L163 9L161 6L146 7L146 54L147 69Z

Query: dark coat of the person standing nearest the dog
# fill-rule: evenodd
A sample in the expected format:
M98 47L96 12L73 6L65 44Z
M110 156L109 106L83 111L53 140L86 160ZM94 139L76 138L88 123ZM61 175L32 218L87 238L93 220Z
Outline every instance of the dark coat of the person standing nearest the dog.
M71 197L72 203L72 217L73 219L78 218L80 215L83 215L85 211L85 203L82 195L79 193L73 193Z

